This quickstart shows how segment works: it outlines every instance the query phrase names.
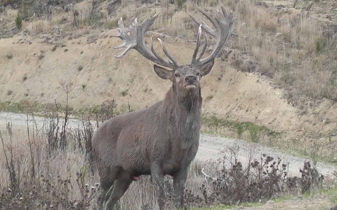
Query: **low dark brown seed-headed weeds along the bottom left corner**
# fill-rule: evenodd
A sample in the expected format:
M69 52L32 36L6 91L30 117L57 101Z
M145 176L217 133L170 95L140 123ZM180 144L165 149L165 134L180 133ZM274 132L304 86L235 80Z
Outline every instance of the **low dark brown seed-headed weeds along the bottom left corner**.
M0 196L1 209L88 209L95 198L96 186L84 183L84 174L77 172L76 181L47 179L43 175L38 179L38 187L29 183L28 187L18 193L11 188ZM28 184L26 182L26 184ZM78 187L79 200L72 199L71 190Z

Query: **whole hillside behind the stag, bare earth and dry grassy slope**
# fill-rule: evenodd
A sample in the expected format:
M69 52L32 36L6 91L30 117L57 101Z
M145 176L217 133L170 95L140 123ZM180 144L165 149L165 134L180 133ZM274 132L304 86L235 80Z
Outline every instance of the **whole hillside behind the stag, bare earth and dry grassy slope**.
M149 107L164 97L171 82L160 79L153 63L134 50L114 57L122 52L113 49L121 43L112 36L118 34L117 20L122 16L129 23L138 17L141 22L159 11L147 42L150 36L160 37L179 62L189 62L197 26L187 12L202 18L196 3L214 13L220 2L61 2L50 6L52 12L38 10L41 17L8 4L0 10L0 100L64 102L58 88L65 80L78 85L69 101L75 108L108 99L120 109L128 103L132 110ZM202 79L203 113L266 126L281 132L281 138L265 135L262 141L301 150L315 145L334 160L337 5L311 3L298 1L293 8L292 1L222 2L238 18L234 28L239 37L228 40ZM21 31L15 28L18 12L30 17L23 19ZM211 39L206 53L213 44ZM235 127L219 129L236 137Z

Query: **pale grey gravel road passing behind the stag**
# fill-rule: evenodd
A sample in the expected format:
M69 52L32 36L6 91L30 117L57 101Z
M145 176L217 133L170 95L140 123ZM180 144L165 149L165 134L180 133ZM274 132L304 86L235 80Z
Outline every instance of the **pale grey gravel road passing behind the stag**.
M0 113L0 129L4 130L6 128L6 124L8 122L12 123L12 129L17 130L26 130L27 120L26 116L23 114L15 114L15 113ZM32 125L31 117L29 117L28 122ZM37 123L38 129L43 126L44 119L42 117L35 117L35 121ZM69 120L69 128L78 127L81 121L76 119ZM94 124L93 124L94 125ZM229 139L222 138L217 136L211 136L202 134L200 137L200 146L198 153L196 155L196 159L200 161L206 161L208 159L218 159L222 157L219 152L224 148L228 148L229 146L238 145L240 150L238 153L238 161L242 163L247 163L247 152L254 152L255 158L259 160L262 154L270 155L271 157L279 157L284 163L289 163L289 176L301 176L299 169L303 167L303 163L308 161L308 159L302 157L296 157L290 155L288 153L284 153L277 149L272 149L267 146L258 143L246 142L243 140L237 139ZM243 164L245 166L245 164ZM323 175L331 175L331 173L337 169L336 166L319 162L317 163L317 169Z

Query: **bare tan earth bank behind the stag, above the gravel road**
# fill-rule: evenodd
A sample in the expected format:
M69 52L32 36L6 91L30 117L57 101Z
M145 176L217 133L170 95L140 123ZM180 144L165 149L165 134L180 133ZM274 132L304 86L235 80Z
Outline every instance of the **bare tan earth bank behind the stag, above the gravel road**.
M86 3L83 1L72 6L85 8ZM101 5L108 3L100 2ZM127 5L117 5L115 15L128 11ZM134 8L134 4L130 5ZM147 5L149 9L144 11L152 14L156 11L153 5ZM144 5L142 8L145 8ZM167 6L167 12L168 8L171 7ZM270 7L266 8L263 4L259 9L269 9L270 12ZM289 8L283 16L300 11ZM101 13L104 12L103 9ZM1 13L2 21L13 19L16 13L15 8L6 7ZM72 14L59 12L54 19L71 18ZM180 14L175 13L176 17ZM311 17L321 16L312 12ZM36 24L38 21L39 25ZM0 101L19 102L31 98L41 103L54 102L55 99L65 102L59 91L59 81L71 80L78 85L69 100L75 108L99 105L114 99L119 108L129 103L132 110L139 110L163 99L170 88L171 82L160 79L153 71L153 63L135 50L121 59L114 57L122 52L113 49L113 46L121 44L118 38L112 37L118 34L117 29L87 27L59 33L59 25L51 30L50 24L41 21L24 22L25 33L0 39ZM240 20L237 22L237 25L242 24ZM49 27L48 33L34 31L37 26L42 28L41 31ZM147 42L150 36L160 37L178 61L189 62L195 42L161 32L165 31L149 32ZM264 75L259 64L255 65L254 59L245 51L232 49L233 43L233 39L227 43L211 73L202 78L203 114L266 126L282 133L281 141L275 139L278 142L274 145L291 145L300 149L319 145L320 154L333 159L337 149L337 137L331 135L337 127L337 105L334 101L323 97L315 100L304 97L301 107L293 106L289 91L278 87L275 80ZM154 46L163 55L157 41ZM207 52L210 53L209 50ZM246 69L254 71L237 68L233 57L241 58L242 68L246 66Z

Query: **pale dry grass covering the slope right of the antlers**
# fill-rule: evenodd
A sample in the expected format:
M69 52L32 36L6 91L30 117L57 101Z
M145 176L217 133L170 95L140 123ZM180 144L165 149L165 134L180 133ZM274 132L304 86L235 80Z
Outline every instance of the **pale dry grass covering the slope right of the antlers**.
M289 101L297 106L302 96L337 99L334 82L337 61L331 57L336 51L333 28L308 18L306 12L289 17L273 15L258 1L225 1L233 7L241 25L237 25L232 48L247 51L257 61L256 70L267 72L290 93ZM280 38L275 34L281 33ZM285 64L293 61L286 69ZM239 68L240 69L240 68Z

